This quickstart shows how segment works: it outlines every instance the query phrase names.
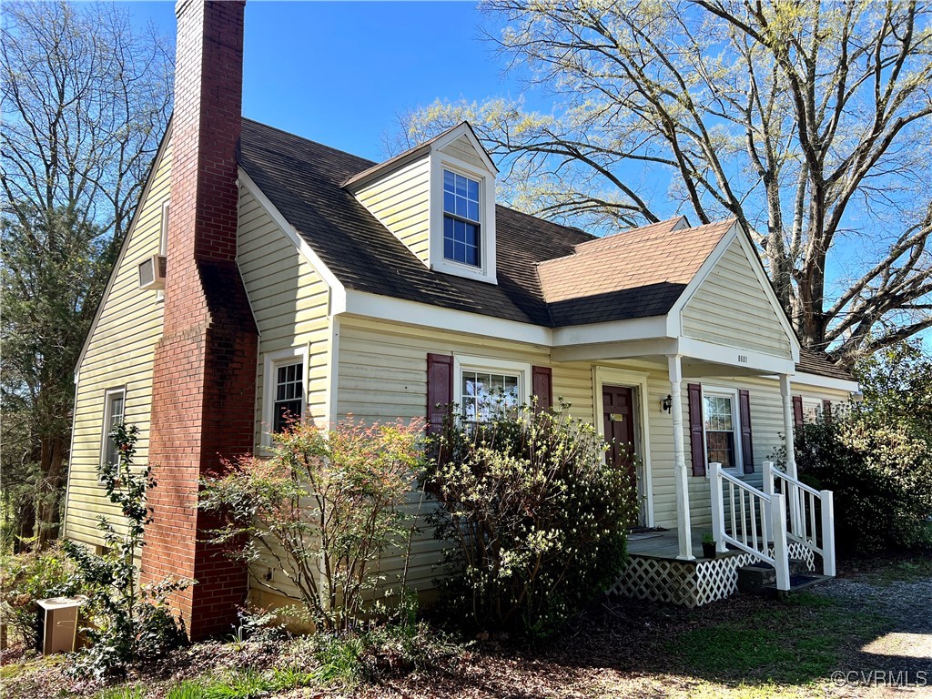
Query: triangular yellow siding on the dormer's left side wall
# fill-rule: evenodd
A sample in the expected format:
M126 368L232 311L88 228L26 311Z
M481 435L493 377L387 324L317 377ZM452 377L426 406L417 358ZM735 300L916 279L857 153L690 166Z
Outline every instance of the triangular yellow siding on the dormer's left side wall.
M426 156L363 187L356 199L429 264L431 161Z

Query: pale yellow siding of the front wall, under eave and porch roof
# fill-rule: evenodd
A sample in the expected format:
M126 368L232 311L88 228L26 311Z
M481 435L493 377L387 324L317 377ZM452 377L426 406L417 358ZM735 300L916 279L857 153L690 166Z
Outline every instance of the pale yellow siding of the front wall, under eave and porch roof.
M593 363L553 363L549 350L542 347L494 338L454 335L429 331L413 326L345 319L341 324L337 413L352 413L370 421L393 418L423 418L427 404L427 354L462 354L553 368L555 400L570 404L570 413L578 418L595 418ZM670 392L665 365L648 362L602 362L599 365L646 373L647 414L650 439L651 493L654 522L657 526L677 526L676 486L673 478L673 419L660 408ZM750 397L751 430L754 445L755 473L739 473L748 482L760 487L761 463L772 460L782 444L783 408L779 383L765 377L693 377L684 381L683 414L688 416L688 395L685 383L706 386L747 389ZM802 390L794 393L813 397L846 400L843 391ZM692 476L689 453L689 426L684 425L687 468L690 469L689 492L693 527L711 526L709 484L705 478ZM437 571L439 546L424 538L418 541L418 555L409 567L409 580L421 588L431 586ZM401 560L388 564L388 569L400 570Z

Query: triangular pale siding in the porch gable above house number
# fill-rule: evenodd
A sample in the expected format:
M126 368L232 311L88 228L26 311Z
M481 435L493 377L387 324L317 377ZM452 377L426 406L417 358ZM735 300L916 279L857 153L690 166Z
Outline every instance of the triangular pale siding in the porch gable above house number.
M791 356L786 331L739 240L722 255L681 317L684 336Z

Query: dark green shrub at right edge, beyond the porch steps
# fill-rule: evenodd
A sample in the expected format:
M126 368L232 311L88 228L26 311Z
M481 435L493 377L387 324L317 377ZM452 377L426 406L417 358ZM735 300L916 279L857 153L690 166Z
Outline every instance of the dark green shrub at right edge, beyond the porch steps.
M834 494L839 553L928 542L932 443L908 425L855 410L798 428L795 448L802 480Z

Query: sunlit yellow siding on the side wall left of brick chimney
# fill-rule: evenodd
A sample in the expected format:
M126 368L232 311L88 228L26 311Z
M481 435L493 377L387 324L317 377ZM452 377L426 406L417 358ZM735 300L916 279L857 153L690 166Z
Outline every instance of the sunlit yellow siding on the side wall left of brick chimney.
M126 387L126 421L139 428L137 463L148 459L152 363L162 332L162 303L156 292L139 288L137 265L158 254L162 203L169 199L170 180L171 147L166 145L79 367L65 528L65 536L75 541L103 544L97 517L103 514L115 524L120 520L97 481L107 389Z

